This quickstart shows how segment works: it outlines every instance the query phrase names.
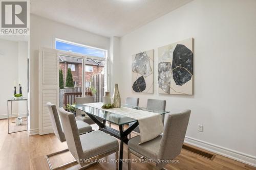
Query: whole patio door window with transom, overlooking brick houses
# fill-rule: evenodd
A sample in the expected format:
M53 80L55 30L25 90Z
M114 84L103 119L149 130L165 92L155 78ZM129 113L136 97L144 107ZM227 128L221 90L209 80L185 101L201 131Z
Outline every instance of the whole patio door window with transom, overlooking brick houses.
M97 47L87 46L55 38L55 48L59 52L59 66L63 63L63 81L67 77L67 67L72 70L72 78L75 88L72 92L81 92L81 96L93 96L95 102L102 102L104 91L108 89L108 51ZM90 87L95 88L101 97L96 97ZM63 95L59 93L62 106L67 105L62 100ZM75 98L72 98L75 99ZM74 103L69 101L68 103ZM60 104L60 105L61 105Z

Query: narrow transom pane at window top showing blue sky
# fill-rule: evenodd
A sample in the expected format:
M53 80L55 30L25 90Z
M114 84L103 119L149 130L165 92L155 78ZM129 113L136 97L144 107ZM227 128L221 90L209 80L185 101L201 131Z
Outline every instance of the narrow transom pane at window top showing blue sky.
M63 50L66 52L74 52L89 56L105 58L105 50L100 50L99 48L89 47L86 45L69 42L65 40L56 39L55 48L57 50Z

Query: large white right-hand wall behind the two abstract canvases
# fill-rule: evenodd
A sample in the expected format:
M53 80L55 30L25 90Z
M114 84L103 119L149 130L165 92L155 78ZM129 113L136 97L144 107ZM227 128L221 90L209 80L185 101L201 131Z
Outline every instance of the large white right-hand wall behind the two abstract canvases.
M120 38L119 89L191 109L186 141L256 166L256 1L195 0ZM194 38L194 95L157 92L157 49ZM132 93L132 55L155 49L154 94ZM197 125L204 132L197 131Z

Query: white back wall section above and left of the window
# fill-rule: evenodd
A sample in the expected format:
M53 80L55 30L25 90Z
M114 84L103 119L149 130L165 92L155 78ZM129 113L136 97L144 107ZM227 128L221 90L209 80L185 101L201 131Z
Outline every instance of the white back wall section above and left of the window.
M38 133L38 50L54 48L55 38L109 50L110 39L30 15L30 135Z

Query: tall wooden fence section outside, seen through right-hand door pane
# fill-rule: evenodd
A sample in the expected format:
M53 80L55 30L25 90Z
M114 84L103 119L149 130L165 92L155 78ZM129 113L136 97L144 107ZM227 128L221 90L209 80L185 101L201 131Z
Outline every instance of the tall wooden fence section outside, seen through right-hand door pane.
M98 74L91 76L91 86L95 88L96 93L93 94L94 102L103 102L104 96L104 75Z

